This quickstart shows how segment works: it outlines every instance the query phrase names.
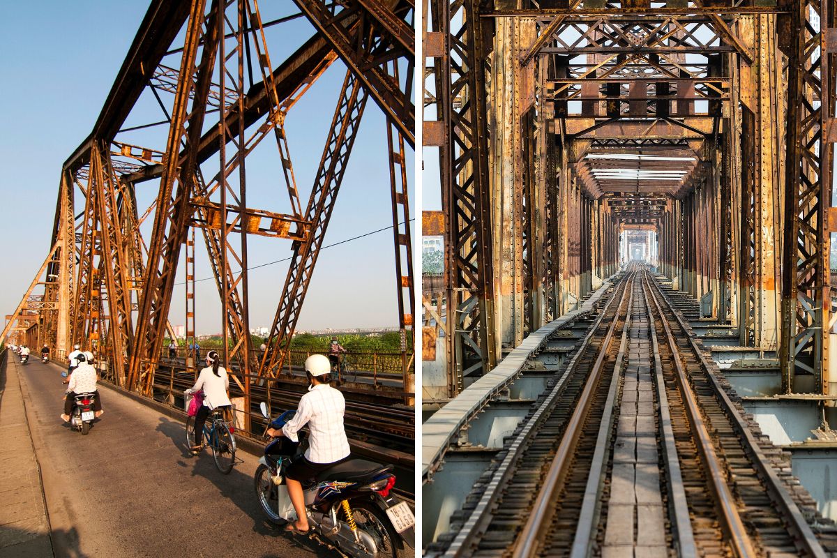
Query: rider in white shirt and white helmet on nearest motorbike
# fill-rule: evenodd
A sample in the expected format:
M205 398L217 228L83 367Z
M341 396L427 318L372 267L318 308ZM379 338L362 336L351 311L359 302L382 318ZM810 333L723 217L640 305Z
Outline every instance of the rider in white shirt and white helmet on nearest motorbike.
M343 427L346 400L341 392L328 383L331 381L331 363L328 358L325 355L309 356L306 359L306 376L311 385L308 393L300 399L294 417L281 430L267 430L269 436L285 436L293 442L299 442L297 433L301 427L308 425L308 449L285 472L288 494L298 518L288 524L285 530L298 534L307 533L309 529L302 483L316 478L317 474L334 463L347 459L350 452L346 429Z

